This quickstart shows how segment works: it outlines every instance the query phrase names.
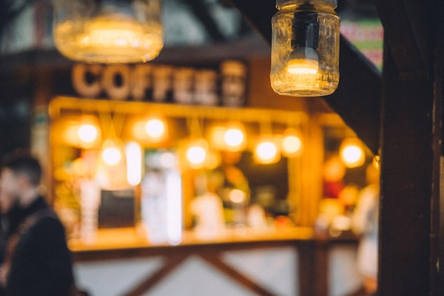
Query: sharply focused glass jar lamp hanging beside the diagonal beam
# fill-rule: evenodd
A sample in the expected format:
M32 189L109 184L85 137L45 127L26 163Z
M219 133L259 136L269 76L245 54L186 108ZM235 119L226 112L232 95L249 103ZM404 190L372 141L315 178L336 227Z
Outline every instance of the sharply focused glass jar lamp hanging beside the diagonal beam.
M286 96L326 96L339 83L338 0L277 0L270 81Z

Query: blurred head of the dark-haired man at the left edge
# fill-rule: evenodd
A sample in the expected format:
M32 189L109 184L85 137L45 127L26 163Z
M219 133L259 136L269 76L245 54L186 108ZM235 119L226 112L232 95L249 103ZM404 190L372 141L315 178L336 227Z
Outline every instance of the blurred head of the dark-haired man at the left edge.
M0 210L9 212L16 203L28 203L35 197L42 169L37 159L29 154L13 154L1 167Z

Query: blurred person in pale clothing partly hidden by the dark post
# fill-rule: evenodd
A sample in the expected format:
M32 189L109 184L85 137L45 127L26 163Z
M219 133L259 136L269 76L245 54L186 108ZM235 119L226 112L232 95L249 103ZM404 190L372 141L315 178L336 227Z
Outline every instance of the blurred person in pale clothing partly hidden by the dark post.
M358 197L352 227L360 237L356 260L364 290L367 295L374 295L378 272L379 168L370 164L365 173L368 185Z

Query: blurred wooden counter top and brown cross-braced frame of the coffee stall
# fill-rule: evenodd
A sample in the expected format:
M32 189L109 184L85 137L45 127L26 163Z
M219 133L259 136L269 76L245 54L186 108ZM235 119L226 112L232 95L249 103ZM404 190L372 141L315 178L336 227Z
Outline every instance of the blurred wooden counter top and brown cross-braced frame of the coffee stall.
M276 292L240 272L223 261L223 253L239 250L263 250L290 247L299 254L295 280L299 283L298 295L328 295L328 250L338 244L355 244L354 237L316 239L313 230L291 227L279 230L252 231L238 229L226 232L217 239L199 239L193 232L184 232L177 245L150 244L137 229L100 230L94 243L85 244L70 240L70 249L76 263L108 261L113 259L162 257L163 264L148 278L124 295L145 295L157 283L167 278L185 260L194 256L203 259L223 275L228 276L257 295L277 295Z

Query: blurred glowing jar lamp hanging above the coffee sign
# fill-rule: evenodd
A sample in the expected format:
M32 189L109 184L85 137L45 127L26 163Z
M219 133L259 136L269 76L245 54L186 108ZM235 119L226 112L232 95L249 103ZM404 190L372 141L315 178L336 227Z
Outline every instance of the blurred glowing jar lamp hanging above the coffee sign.
M53 34L69 59L148 62L163 47L160 0L54 0Z

